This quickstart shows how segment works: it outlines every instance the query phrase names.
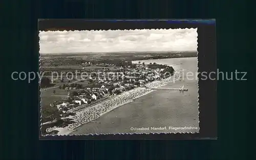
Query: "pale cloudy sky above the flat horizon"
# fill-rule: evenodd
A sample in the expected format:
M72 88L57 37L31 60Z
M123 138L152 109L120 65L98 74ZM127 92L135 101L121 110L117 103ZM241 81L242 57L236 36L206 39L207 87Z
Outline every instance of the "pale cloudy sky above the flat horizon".
M196 51L197 29L39 31L39 52Z

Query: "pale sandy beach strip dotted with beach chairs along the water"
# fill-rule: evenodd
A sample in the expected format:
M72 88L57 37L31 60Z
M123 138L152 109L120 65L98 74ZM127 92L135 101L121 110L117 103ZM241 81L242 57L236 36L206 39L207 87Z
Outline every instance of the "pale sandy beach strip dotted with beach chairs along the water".
M174 73L173 76L168 77L166 79L161 79L161 81L151 82L149 84L146 84L145 86L147 86L147 87L164 86L170 82L177 81L180 78L181 73L182 73L182 69L179 69ZM92 122L93 120L98 119L102 115L109 113L124 104L133 102L135 99L145 96L154 91L155 90L150 89L150 88L135 88L133 90L123 92L120 95L114 97L113 99L106 100L104 102L101 102L99 104L91 106L90 108L83 109L83 110L77 112L75 116L70 116L70 118L73 119L75 121L75 123L69 124L67 127L56 128L55 130L59 131L57 133L57 135L70 135L71 132L75 131L74 129L76 129L84 124L87 124L89 122ZM123 99L123 100L120 100L120 99ZM94 114L93 114L93 112L94 112ZM86 120L86 116L89 116L90 118L88 118L88 120Z

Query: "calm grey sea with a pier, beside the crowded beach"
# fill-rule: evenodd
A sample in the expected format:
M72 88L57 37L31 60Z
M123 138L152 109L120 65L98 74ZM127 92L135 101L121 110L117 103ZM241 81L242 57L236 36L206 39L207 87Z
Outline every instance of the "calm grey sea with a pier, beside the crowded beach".
M140 62L156 62L172 66L175 70L182 69L180 79L162 87L184 86L188 91L151 92L104 114L94 122L76 128L71 135L199 132L197 57Z

